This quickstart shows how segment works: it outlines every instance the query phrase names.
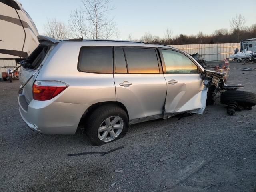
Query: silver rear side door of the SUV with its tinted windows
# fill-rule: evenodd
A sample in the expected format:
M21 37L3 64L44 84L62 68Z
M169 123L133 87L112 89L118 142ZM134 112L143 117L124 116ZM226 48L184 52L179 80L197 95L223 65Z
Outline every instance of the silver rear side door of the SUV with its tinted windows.
M166 81L155 48L115 47L116 100L124 104L130 120L163 113Z

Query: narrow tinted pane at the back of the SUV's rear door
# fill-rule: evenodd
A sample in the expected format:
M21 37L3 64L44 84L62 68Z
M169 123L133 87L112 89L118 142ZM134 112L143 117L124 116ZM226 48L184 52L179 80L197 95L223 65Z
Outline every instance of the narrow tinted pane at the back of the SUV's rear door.
M115 72L127 73L123 48L115 48Z

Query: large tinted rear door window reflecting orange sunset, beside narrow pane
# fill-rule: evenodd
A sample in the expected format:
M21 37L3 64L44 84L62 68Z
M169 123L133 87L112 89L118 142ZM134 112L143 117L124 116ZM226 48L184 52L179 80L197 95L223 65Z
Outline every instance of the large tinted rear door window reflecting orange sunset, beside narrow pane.
M159 73L154 49L124 48L129 73Z

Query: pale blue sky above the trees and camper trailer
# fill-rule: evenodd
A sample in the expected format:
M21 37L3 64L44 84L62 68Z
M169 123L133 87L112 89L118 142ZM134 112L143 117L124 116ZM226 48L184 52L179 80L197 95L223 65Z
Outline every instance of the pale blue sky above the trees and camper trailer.
M82 6L80 0L19 0L34 20L40 34L47 18L68 24L70 12ZM215 29L230 29L229 20L242 14L246 26L256 23L256 0L112 0L119 39L132 33L140 38L145 32L164 37L167 27L173 34L211 34Z

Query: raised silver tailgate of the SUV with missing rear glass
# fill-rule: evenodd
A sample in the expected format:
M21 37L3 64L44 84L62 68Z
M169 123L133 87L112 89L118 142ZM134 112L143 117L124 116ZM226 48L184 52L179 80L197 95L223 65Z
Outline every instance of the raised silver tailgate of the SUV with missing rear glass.
M37 71L38 68L43 64L44 60L46 60L47 56L50 54L50 50L53 48L51 48L52 44L60 42L45 36L38 36L38 40L40 42L39 46L30 54L26 60L20 62L22 64L19 72L19 80L21 86L23 86L30 78L30 76L34 74L33 78L30 79L26 86L23 88L22 94L24 94L28 103L30 103L30 101L33 99L32 86L36 80L36 76L39 73L39 71Z

